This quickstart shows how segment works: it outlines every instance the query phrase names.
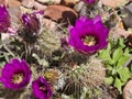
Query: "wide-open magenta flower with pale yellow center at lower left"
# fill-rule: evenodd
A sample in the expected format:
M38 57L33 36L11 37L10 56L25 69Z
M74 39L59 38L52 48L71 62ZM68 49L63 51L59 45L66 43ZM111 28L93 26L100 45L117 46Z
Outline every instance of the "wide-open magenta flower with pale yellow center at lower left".
M25 87L31 78L31 70L25 61L11 59L2 68L0 81L9 89Z

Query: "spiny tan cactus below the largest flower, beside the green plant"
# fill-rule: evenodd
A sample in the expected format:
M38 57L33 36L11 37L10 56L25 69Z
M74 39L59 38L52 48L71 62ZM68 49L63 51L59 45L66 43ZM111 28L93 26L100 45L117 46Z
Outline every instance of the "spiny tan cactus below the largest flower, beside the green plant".
M75 65L72 70L66 73L66 86L64 92L74 95L80 99L82 88L98 88L103 84L106 69L99 59L90 58L86 64Z

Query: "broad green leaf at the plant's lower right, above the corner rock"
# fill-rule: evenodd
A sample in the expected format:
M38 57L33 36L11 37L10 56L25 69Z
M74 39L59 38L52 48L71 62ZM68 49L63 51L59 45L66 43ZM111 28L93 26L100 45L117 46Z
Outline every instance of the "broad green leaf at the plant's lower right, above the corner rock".
M130 77L131 73L128 67L123 67L118 70L121 81L125 82Z

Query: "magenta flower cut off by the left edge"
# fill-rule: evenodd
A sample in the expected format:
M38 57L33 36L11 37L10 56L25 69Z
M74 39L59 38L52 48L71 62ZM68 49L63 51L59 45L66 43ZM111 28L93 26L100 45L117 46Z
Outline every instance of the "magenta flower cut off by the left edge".
M7 8L0 6L0 32L7 32L10 24L10 15Z

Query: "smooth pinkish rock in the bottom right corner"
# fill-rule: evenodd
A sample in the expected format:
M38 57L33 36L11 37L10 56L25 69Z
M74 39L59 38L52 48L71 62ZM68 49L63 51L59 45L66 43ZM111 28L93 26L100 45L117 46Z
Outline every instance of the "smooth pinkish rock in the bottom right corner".
M123 88L123 99L132 99L132 80L128 81Z

